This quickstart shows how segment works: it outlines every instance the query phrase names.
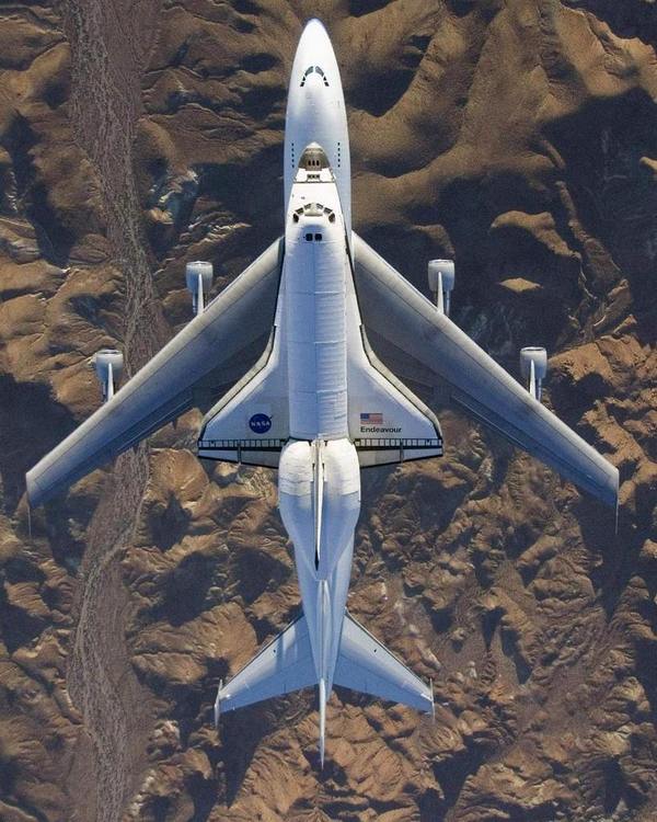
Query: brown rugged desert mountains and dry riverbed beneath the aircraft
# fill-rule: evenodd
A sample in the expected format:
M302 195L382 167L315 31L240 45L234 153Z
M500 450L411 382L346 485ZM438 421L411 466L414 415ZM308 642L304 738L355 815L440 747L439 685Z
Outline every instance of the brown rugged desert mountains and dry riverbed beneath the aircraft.
M339 690L222 719L297 613L275 475L191 412L30 512L24 473L281 230L303 22L343 72L356 229L619 467L613 515L449 409L441 460L364 473L349 608L436 721ZM0 4L0 820L657 819L653 0Z

